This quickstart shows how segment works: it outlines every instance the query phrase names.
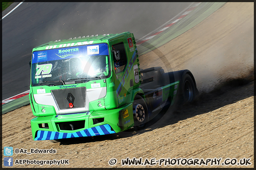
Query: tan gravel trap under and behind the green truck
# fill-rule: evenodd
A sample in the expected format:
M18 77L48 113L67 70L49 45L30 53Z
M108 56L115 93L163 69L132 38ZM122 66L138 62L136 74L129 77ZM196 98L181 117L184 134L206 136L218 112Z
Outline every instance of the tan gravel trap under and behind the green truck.
M12 146L14 149L28 149L28 152L31 148L53 148L57 152L14 154L12 156L14 160L69 159L68 165L25 164L14 165L13 167L157 168L159 162L153 166L122 166L121 162L122 159L126 158L142 158L142 162L145 159L149 161L151 159L153 163L162 158L181 158L181 160L183 158L200 160L221 158L221 165L210 166L209 163L207 166L176 164L161 165L160 167L253 168L254 82L252 81L253 63L250 62L253 61L254 55L253 18L253 3L228 2L196 27L158 49L172 62L173 70L189 67L188 69L195 75L201 94L193 103L163 110L157 119L158 121L150 122L144 130L133 131L133 129L129 129L118 134L70 138L60 143L51 143L32 140L30 120L34 116L30 106L2 115L3 148ZM233 27L233 25L236 26ZM238 35L238 32L241 34ZM240 39L232 41L234 37ZM183 42L186 42L187 45L182 44ZM233 45L230 44L231 42ZM223 60L221 57L214 58L219 55L217 52L224 50L225 47L232 47L232 49L224 53L226 56L222 56ZM169 57L170 54L175 54L175 57ZM157 54L153 51L141 56L141 65L153 67L152 63L157 64L159 60L154 55ZM231 60L231 56L235 60ZM210 62L211 57L212 62ZM143 58L147 58L148 61L144 61ZM199 60L200 58L201 60ZM222 64L217 62L219 60L221 60L219 63ZM163 63L162 65L159 64L164 66ZM220 67L215 67L214 64L219 64ZM206 67L208 68L206 69ZM215 81L219 78L222 81ZM223 84L224 82L226 83ZM215 90L209 92L209 89L213 90L213 87ZM2 167L4 167L5 156L3 153L2 157ZM117 160L117 163L111 166L109 161L113 158ZM222 165L227 158L235 158L238 162L243 158L250 159L249 163L251 164L247 166Z

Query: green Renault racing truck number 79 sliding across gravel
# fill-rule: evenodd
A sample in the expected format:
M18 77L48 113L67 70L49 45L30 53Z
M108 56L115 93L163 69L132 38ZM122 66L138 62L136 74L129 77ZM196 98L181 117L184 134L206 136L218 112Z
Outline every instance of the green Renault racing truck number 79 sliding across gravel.
M129 32L56 40L33 49L30 104L33 140L113 134L142 129L177 96L192 101L189 70L140 69Z

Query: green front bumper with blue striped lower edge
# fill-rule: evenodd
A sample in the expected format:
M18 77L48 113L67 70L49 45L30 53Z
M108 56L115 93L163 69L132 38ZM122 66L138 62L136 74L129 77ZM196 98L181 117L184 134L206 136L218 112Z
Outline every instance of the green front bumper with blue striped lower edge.
M82 128L76 125L81 122L84 122ZM42 127L42 124L47 126ZM63 124L74 124L74 127L79 128L65 129ZM33 140L107 135L124 131L133 125L132 103L106 111L35 117L31 120Z

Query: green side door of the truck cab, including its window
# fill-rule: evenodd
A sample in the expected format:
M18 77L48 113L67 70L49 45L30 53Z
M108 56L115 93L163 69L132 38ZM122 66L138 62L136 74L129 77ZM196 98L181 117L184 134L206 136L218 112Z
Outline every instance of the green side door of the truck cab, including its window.
M112 50L112 61L114 66L114 84L117 92L118 105L121 106L125 103L124 98L130 87L127 79L127 52L124 46L124 39L114 39L110 41ZM115 55L117 53L117 55ZM128 83L127 83L128 82Z

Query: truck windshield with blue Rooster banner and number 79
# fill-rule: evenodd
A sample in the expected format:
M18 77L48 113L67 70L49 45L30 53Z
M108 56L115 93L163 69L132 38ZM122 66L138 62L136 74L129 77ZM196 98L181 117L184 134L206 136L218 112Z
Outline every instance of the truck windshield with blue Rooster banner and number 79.
M108 45L105 43L34 51L31 63L33 86L63 81L85 82L110 75Z

